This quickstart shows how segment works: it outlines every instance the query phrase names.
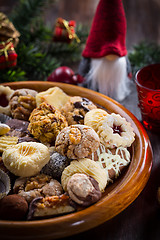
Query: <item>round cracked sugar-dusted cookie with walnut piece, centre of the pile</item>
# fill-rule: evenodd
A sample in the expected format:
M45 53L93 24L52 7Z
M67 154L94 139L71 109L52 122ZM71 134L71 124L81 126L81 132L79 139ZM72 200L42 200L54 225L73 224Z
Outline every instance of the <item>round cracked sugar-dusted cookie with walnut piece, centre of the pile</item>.
M88 126L77 124L64 128L55 141L56 151L70 158L85 158L100 144L97 133Z

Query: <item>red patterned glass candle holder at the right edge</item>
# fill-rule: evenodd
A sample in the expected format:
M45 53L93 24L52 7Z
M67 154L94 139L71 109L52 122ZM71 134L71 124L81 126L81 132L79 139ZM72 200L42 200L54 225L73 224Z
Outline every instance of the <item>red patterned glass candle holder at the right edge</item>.
M160 64L140 69L135 77L144 126L160 132Z

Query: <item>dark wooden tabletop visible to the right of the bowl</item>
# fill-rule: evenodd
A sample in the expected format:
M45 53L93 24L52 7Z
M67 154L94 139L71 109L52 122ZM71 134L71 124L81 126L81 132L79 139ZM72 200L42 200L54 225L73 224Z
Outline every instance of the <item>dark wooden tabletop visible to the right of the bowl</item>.
M134 84L131 94L121 104L141 121ZM160 239L160 204L157 201L157 189L160 186L160 135L150 131L147 131L147 133L153 149L153 167L150 178L138 198L113 219L86 232L66 237L65 240Z

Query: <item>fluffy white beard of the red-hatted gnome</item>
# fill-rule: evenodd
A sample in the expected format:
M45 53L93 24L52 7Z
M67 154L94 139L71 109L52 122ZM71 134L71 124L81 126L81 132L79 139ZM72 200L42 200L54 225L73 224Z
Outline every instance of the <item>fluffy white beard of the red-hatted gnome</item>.
M105 57L91 59L90 71L86 78L91 89L117 101L123 100L130 93L125 57L118 57L112 61Z

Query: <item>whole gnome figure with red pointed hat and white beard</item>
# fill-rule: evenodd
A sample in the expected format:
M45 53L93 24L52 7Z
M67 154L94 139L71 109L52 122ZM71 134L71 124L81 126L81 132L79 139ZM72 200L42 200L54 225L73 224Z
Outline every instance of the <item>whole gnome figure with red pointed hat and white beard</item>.
M122 0L100 0L82 52L79 74L86 79L85 87L117 101L130 93L125 38Z

